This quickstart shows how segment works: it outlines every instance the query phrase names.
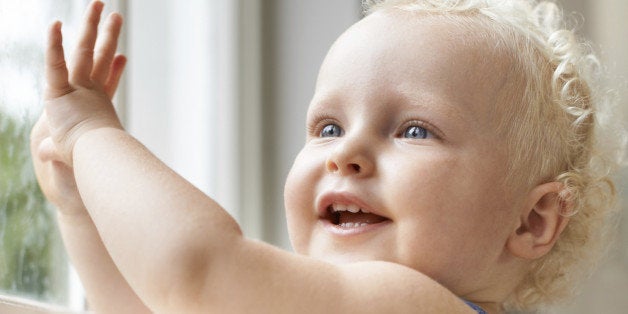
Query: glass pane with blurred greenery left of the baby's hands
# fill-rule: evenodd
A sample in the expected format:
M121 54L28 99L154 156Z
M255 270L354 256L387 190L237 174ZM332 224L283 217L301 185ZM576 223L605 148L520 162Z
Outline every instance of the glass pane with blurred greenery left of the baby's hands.
M29 133L42 108L48 25L60 19L75 37L85 2L0 0L0 293L59 305L70 299L68 262L35 180Z

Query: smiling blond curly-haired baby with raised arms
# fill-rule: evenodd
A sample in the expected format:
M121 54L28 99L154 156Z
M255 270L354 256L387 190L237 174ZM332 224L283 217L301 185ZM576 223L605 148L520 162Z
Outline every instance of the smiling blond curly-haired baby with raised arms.
M615 196L596 59L551 3L366 6L323 62L286 182L297 254L243 237L124 131L119 15L94 48L91 3L69 67L52 25L33 159L91 308L501 313L571 294Z

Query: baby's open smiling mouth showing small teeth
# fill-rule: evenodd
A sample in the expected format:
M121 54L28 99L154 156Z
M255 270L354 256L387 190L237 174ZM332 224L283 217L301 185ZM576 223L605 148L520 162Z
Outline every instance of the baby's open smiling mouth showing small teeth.
M386 217L373 214L357 205L339 203L329 205L323 218L343 229L362 228L390 221Z

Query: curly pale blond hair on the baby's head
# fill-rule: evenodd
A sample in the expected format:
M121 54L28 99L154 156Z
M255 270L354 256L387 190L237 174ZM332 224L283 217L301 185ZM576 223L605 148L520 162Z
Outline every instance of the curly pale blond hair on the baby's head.
M500 131L509 143L507 184L557 181L561 199L572 204L569 223L554 248L535 260L528 275L503 304L534 310L572 296L594 268L615 227L612 174L623 158L626 133L616 117L617 101L601 88L605 71L590 45L567 28L552 2L533 0L363 1L365 13L396 8L442 15L475 26L510 56L508 99ZM512 93L511 93L512 94ZM566 206L565 208L569 208Z

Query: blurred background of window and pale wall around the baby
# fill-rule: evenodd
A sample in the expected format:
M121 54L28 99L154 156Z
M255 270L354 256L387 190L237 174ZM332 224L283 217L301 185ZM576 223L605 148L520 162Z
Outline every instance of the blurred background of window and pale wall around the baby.
M0 0L0 299L85 308L27 144L41 112L45 29L62 20L71 51L88 2ZM129 132L217 199L248 236L290 249L284 180L305 138L318 67L361 18L360 1L104 2L125 17L120 51L129 63L114 102ZM578 12L573 19L616 78L609 85L628 115L628 2L560 3ZM617 177L628 197L628 171ZM547 313L626 313L627 220L583 292Z

